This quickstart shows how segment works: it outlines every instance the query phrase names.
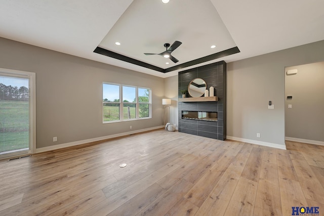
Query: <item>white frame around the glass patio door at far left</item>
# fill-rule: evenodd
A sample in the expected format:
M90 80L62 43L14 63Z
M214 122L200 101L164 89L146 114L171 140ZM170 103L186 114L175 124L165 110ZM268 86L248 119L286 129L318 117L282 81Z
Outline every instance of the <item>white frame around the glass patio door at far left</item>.
M0 68L0 74L8 76L21 76L29 78L29 150L17 151L13 153L8 153L0 157L0 159L5 159L13 156L32 154L36 149L36 73L12 70L6 68Z

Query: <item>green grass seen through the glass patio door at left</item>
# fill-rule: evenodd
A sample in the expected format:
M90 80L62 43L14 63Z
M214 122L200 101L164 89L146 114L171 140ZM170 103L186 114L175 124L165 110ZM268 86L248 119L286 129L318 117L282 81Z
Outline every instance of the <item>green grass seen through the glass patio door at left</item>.
M0 152L29 147L28 102L0 101Z

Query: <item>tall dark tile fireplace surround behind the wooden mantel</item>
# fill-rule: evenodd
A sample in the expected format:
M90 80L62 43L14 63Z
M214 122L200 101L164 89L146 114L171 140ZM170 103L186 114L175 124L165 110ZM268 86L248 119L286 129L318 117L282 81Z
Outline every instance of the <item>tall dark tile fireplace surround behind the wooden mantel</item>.
M179 102L179 132L208 137L217 140L226 139L226 62L192 68L179 72L178 98L182 98L181 90L188 90L188 85L195 78L204 79L207 89L215 88L216 102ZM187 94L187 97L190 97ZM204 96L202 96L204 97ZM217 112L217 121L183 118L183 112ZM201 115L201 114L200 114Z

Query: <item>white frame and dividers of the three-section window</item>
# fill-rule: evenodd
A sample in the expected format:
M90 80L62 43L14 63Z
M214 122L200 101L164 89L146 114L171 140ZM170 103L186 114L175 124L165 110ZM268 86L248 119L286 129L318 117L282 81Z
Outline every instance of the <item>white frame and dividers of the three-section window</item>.
M104 84L111 84L111 85L118 85L119 86L119 119L118 120L111 120L111 121L104 121L103 119L103 112L104 112L104 106L103 106L103 101L102 101L102 123L113 123L113 122L120 122L120 121L134 121L134 120L142 120L142 119L150 119L152 118L152 90L151 88L147 88L147 87L137 87L134 85L127 85L127 84L119 84L119 83L113 83L113 82L102 82L102 99L103 100L103 85ZM135 107L136 107L136 112L135 112L135 118L131 118L131 119L124 119L124 98L123 98L123 87L133 87L136 89L136 103L135 103ZM148 103L139 103L138 101L138 89L148 89L149 90L149 102ZM110 102L109 102L110 103ZM111 103L116 103L116 102L111 102ZM129 102L130 104L134 104L132 102ZM125 103L128 104L128 103ZM149 116L148 117L139 117L139 105L140 104L148 104L149 106Z

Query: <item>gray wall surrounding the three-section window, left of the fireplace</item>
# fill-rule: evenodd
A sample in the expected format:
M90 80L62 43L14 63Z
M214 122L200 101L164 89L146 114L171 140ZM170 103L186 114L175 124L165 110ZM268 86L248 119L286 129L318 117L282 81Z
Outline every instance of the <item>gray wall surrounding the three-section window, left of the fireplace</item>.
M0 68L36 73L36 148L163 125L163 78L5 38L0 48ZM103 81L151 88L152 119L103 124Z

